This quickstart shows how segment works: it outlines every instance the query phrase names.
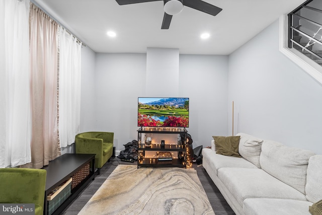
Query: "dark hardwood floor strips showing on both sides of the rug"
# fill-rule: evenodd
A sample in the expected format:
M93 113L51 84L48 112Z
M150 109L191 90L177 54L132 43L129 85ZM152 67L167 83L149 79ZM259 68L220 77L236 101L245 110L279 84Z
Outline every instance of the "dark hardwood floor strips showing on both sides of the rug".
M101 169L100 175L95 175L95 180L90 182L87 187L78 194L78 196L63 210L60 214L73 215L78 214L78 212L84 207L84 205L90 200L98 188L104 183L107 177L113 172L119 164L126 165L136 165L136 163L122 162L118 158L111 159L110 163L106 163ZM211 178L205 169L201 166L193 164L192 168L197 171L199 180L206 191L208 199L211 203L213 210L216 215L233 215L235 214L230 208L224 197L219 192L216 185L213 183Z

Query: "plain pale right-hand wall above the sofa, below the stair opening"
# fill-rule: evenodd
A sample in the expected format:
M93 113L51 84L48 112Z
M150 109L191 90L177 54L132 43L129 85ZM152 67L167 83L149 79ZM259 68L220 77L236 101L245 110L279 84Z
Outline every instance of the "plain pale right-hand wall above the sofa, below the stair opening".
M322 86L279 52L278 24L229 56L235 131L322 154ZM230 121L228 115L228 132Z

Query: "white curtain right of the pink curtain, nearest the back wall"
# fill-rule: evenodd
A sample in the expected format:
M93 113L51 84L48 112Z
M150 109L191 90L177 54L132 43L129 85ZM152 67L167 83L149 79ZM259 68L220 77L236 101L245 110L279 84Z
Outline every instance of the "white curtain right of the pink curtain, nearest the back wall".
M62 27L59 36L59 142L67 147L79 133L82 45Z

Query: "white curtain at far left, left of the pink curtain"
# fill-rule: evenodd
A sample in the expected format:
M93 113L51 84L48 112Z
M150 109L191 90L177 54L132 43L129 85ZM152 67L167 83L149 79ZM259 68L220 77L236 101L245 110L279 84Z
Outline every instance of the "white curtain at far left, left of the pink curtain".
M0 1L0 168L31 161L29 4Z

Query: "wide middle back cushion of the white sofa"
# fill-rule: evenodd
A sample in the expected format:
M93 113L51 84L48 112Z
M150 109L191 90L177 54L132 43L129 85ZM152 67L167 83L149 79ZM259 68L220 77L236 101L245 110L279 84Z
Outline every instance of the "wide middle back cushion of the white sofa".
M314 153L286 147L276 141L264 140L260 163L270 175L305 194L308 159Z

